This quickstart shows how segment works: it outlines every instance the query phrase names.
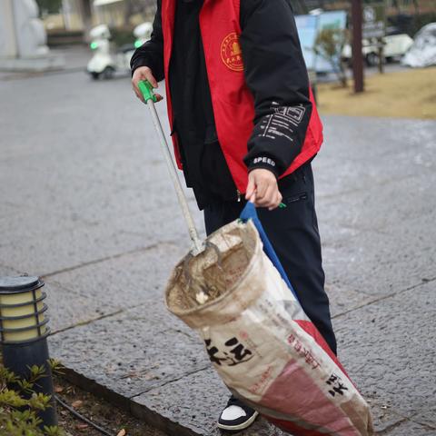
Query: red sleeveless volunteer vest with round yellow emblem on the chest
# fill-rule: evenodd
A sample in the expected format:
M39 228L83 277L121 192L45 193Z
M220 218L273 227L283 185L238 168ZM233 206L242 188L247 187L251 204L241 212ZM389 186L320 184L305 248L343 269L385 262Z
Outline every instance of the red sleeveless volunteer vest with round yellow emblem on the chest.
M163 62L168 117L173 131L173 106L169 85L169 65L173 50L173 28L176 0L162 1ZM253 94L245 84L243 59L238 36L240 0L205 0L200 13L204 57L211 89L216 133L225 160L241 193L247 186L247 167L243 157L253 133ZM302 163L318 153L322 144L322 123L311 91L312 115L302 151L281 177L292 173ZM176 134L173 134L174 154L182 168Z

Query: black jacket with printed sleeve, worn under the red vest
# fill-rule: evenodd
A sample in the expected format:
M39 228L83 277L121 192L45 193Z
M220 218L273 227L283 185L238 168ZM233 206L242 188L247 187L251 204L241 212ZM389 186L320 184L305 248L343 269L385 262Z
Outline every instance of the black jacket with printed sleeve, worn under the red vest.
M198 23L203 0L173 1L177 2L169 73L173 124L186 183L193 187L197 203L203 209L216 197L235 200L236 188L214 130ZM249 170L267 168L279 176L300 153L312 113L292 6L289 0L241 0L240 22L245 80L255 104L253 135L244 162ZM148 66L156 80L163 80L161 0L158 0L152 38L135 51L131 66L133 71ZM283 126L282 134L272 139L261 133L277 105L303 106L305 111L297 127L292 126L290 130L291 126Z

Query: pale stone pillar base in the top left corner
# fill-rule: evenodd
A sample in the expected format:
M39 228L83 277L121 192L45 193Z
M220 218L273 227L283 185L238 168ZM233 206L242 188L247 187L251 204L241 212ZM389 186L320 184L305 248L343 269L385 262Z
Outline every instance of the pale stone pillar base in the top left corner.
M0 2L0 69L45 71L64 60L50 54L35 0Z

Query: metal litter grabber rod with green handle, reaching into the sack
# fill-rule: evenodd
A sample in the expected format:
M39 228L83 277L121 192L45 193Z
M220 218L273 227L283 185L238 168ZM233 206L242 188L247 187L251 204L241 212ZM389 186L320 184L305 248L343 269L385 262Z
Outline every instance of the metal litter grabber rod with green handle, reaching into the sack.
M171 155L170 148L168 143L166 142L165 135L163 134L163 128L161 124L161 120L159 119L159 115L156 112L156 108L154 107L154 103L156 102L156 96L153 92L153 86L146 80L139 82L138 84L139 90L144 95L144 102L148 104L150 108L150 113L152 114L153 124L159 138L159 143L161 144L161 150L163 152L163 157L165 158L166 166L170 173L171 179L173 181L175 193L177 194L177 198L179 200L180 206L182 207L182 212L184 216L184 220L188 225L189 236L191 237L191 241L193 242L193 255L197 255L202 253L204 250L204 244L202 240L198 237L198 232L195 227L195 223L193 222L193 215L189 210L188 202L186 200L186 196L183 193L182 183L180 183L180 179L177 175L177 169L173 162L173 156Z

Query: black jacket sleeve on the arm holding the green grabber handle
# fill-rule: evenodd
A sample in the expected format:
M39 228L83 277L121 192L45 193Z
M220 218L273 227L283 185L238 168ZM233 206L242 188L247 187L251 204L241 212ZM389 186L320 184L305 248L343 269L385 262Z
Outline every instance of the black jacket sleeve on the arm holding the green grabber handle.
M161 19L161 0L157 0L157 11L154 15L153 33L151 39L137 48L130 61L132 74L139 66L148 66L154 78L160 82L163 80L163 33Z

